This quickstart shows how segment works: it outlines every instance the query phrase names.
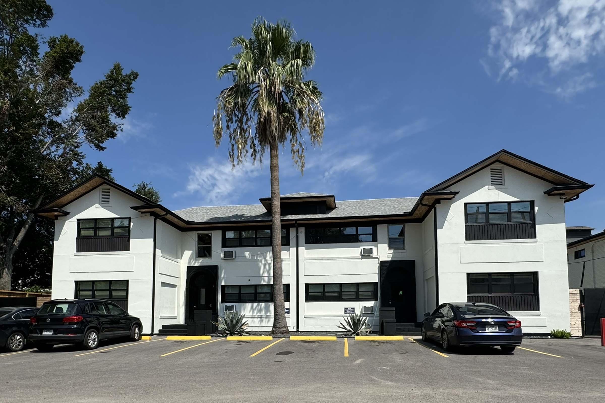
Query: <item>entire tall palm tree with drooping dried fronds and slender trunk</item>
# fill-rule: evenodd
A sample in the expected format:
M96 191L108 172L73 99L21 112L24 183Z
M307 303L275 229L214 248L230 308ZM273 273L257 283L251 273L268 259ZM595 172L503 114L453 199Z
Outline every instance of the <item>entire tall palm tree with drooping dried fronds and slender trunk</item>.
M231 47L238 48L234 62L218 70L218 78L229 76L232 85L217 97L212 123L217 147L229 137L232 167L246 160L263 162L269 149L271 178L271 244L273 253L273 329L272 334L287 334L286 310L281 269L280 222L280 147L290 143L292 160L304 170L304 132L313 145L324 136L324 111L317 83L304 81L315 62L315 50L309 42L295 39L286 21L270 24L257 18L252 37L235 37ZM297 293L298 294L298 293Z

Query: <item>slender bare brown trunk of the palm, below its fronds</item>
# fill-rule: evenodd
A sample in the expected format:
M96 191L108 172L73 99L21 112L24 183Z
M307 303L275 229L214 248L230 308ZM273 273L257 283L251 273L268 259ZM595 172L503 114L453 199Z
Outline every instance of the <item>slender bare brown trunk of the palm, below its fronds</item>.
M271 154L271 246L273 253L273 329L274 335L288 334L284 286L281 270L280 145L269 147Z

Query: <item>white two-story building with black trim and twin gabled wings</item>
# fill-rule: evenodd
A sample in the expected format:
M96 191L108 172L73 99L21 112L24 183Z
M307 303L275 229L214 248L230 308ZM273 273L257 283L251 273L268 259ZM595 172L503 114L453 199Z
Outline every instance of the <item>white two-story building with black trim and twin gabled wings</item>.
M564 202L592 185L501 150L419 197L281 197L290 330L346 312L417 323L446 301L495 303L526 333L569 327ZM56 219L53 298L110 298L143 331L246 314L273 321L269 198L171 211L92 176L36 213ZM166 329L164 327L164 329ZM203 333L208 329L197 329Z

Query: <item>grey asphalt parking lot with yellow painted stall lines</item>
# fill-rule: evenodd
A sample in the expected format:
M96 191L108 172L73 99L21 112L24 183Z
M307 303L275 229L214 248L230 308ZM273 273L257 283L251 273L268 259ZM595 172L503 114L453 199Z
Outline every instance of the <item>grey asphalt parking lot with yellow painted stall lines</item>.
M0 353L1 402L605 401L598 339L443 352L401 341L224 338Z

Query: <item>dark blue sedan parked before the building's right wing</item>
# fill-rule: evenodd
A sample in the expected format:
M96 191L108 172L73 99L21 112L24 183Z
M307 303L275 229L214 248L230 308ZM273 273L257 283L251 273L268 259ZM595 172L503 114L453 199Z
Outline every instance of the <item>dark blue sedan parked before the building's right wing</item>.
M424 315L422 340L436 340L446 351L453 346L500 346L512 352L523 341L521 322L495 305L451 302Z

